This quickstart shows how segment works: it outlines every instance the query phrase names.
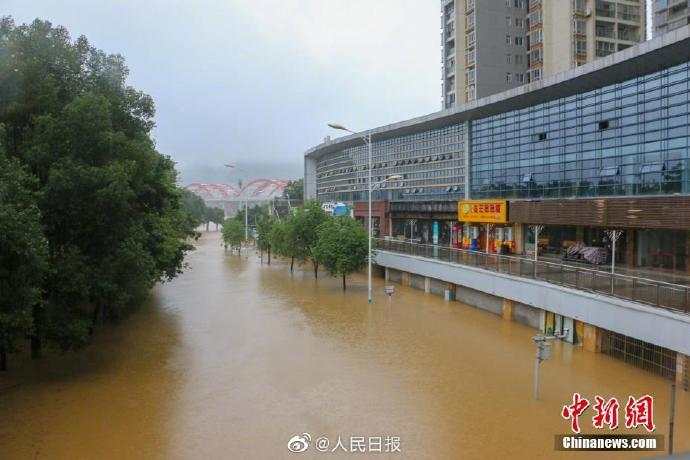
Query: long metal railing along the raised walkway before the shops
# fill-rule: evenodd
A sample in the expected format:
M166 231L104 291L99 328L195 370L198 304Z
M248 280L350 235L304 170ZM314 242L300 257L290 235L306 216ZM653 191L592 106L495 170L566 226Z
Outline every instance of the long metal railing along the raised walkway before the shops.
M690 286L568 264L542 260L535 262L526 257L487 254L410 241L376 239L375 243L376 248L383 251L482 268L690 313Z

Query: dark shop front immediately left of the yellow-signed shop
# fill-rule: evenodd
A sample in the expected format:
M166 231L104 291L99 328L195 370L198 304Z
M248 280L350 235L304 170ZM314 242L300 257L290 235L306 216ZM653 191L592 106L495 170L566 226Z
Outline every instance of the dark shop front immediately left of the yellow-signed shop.
M457 201L401 201L390 206L394 238L458 247Z

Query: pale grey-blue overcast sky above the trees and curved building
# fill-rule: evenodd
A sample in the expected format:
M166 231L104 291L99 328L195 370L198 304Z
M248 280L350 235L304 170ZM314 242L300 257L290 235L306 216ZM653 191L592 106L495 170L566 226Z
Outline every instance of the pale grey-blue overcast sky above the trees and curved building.
M296 177L307 148L340 135L328 121L440 108L438 0L2 0L0 14L124 55L156 101L159 150L190 180L229 161Z

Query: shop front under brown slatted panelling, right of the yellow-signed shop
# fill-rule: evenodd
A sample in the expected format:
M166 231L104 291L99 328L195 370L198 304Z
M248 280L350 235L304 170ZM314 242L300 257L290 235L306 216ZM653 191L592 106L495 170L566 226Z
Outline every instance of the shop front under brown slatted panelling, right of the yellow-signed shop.
M524 229L524 251L568 262L611 262L611 230L620 231L615 262L640 276L690 275L690 197L511 201L509 218Z

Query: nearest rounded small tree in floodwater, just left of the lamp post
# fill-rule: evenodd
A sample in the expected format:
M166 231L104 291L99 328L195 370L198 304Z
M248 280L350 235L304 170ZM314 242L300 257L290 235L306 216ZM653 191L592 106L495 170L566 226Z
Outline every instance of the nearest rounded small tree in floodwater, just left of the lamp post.
M366 263L367 232L350 217L336 217L322 223L317 235L314 256L332 276L342 276L345 290L347 275Z

